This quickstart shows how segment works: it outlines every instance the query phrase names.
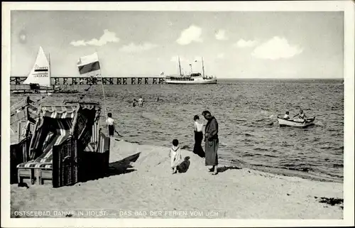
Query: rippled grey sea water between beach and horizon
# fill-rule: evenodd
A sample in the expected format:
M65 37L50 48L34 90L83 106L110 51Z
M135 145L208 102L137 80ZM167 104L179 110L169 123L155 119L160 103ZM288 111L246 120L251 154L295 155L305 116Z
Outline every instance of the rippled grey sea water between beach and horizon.
M80 90L87 87L81 85ZM208 109L219 123L220 163L343 179L342 80L219 80L217 85L104 85L104 90L107 112L126 141L170 146L178 139L182 148L192 150L193 116L204 121L201 113ZM140 96L143 107L133 107L133 99ZM60 104L79 97L52 94L43 101ZM23 95L12 95L11 104L20 99ZM103 105L102 86L92 86L85 99ZM276 116L286 111L293 116L299 109L316 117L315 126L278 126ZM104 124L104 118L101 121Z

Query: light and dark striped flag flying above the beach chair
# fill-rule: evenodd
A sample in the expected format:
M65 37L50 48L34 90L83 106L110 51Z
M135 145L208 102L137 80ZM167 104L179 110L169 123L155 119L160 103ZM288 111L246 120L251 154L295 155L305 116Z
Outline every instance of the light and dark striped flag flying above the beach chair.
M100 77L100 63L97 53L92 55L85 55L79 58L77 61L77 68L80 75L87 77Z

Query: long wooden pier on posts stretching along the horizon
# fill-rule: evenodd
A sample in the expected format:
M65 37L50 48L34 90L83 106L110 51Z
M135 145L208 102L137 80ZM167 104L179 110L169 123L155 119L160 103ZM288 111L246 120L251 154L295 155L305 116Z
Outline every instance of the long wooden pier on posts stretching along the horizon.
M10 85L21 85L26 77L10 77ZM164 77L52 77L52 85L148 85L165 84Z

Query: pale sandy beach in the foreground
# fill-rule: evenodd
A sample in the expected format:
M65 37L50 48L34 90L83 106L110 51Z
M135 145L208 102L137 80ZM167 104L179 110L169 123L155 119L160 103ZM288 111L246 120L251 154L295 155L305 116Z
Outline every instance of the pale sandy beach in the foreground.
M169 148L111 139L106 178L52 188L11 185L11 217L49 211L41 217L342 219L343 184L286 177L221 166L211 175L204 158L191 151L187 173L170 173ZM92 210L80 212L80 210ZM97 212L94 210L102 210ZM60 212L56 212L60 211Z

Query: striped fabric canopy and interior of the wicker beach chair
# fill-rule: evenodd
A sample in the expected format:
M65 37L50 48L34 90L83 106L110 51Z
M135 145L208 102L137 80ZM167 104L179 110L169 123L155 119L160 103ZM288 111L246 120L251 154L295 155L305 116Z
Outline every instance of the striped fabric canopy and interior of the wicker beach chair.
M92 134L97 134L92 126L97 123L100 112L98 104L40 107L30 145L31 158L38 158L36 160L41 163L51 162L53 146L60 145L70 136L80 142L81 148L86 148L92 141Z

